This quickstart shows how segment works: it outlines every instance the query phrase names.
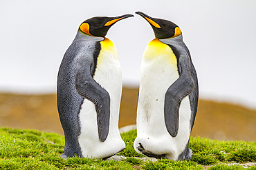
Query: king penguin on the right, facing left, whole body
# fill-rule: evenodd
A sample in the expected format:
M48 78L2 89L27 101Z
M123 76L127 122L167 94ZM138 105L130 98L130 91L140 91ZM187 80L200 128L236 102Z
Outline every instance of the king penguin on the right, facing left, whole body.
M199 96L190 52L175 23L136 14L148 21L156 39L147 45L140 65L134 149L154 158L190 159Z

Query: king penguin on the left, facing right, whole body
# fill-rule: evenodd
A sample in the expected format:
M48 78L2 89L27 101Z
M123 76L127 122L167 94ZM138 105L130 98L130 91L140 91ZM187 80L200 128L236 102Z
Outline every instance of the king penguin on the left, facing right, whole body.
M125 149L118 131L122 75L109 28L128 17L84 21L57 76L57 108L64 130L63 158L108 158Z

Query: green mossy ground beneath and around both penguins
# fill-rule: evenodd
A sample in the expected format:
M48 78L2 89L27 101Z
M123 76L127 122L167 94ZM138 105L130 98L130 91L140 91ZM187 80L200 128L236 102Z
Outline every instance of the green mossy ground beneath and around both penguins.
M64 136L36 130L0 128L0 169L244 169L239 164L256 162L256 142L217 141L206 138L190 138L194 155L191 160L156 162L134 157L133 142L136 130L122 134L126 149L118 155L122 161L89 158L68 158L64 151ZM256 169L255 166L248 169Z

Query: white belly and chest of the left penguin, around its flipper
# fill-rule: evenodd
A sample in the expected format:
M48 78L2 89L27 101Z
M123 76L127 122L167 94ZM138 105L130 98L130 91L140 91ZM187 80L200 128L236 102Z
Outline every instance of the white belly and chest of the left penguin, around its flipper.
M112 48L101 50L93 76L93 79L106 89L110 96L109 134L104 142L101 142L98 136L95 105L90 100L84 99L80 110L81 131L78 142L82 156L88 158L105 158L125 148L125 142L118 130L122 75L116 47Z

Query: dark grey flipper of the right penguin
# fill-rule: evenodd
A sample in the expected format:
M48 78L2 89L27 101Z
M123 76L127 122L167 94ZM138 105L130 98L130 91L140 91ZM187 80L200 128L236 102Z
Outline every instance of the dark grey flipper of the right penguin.
M194 80L190 74L189 56L181 54L179 57L179 78L170 85L165 93L165 126L172 137L178 134L179 107L181 100L188 96L194 88Z

